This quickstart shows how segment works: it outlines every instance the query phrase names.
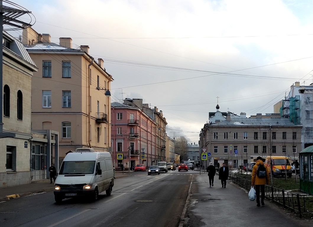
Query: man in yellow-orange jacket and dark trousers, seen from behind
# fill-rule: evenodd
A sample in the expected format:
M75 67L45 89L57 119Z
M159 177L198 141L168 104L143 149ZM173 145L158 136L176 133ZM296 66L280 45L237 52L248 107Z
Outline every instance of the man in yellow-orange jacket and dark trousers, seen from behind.
M256 158L256 163L252 168L252 178L251 178L251 186L255 186L255 193L256 193L256 205L259 207L260 206L260 188L261 188L261 204L264 206L264 198L265 198L265 184L269 184L269 172L266 169L266 176L264 178L259 178L257 176L257 169L259 165L263 165L264 163L262 161L262 157L257 157Z

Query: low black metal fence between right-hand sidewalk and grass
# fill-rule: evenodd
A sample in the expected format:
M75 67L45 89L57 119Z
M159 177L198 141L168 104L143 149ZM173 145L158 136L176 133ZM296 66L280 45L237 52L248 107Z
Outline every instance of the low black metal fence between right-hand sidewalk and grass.
M232 182L236 183L248 190L251 188L251 180L232 176ZM304 193L293 193L284 189L274 188L265 185L265 197L273 202L281 204L284 208L289 208L299 213L301 218L303 214L313 216L313 195Z

